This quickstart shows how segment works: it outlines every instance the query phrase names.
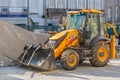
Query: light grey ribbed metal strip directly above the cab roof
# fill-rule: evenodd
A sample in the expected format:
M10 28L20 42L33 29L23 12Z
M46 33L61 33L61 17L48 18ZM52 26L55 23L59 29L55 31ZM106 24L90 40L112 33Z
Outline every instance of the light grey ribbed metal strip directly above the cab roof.
M46 8L60 8L60 9L82 9L95 8L104 9L104 0L44 0Z

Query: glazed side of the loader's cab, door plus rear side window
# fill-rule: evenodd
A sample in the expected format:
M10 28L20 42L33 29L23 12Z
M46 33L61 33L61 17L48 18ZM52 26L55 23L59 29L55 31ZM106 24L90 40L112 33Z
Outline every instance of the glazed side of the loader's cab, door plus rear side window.
M85 28L84 28L84 41L85 45L90 45L90 42L97 36L104 36L103 15L96 13L87 13Z

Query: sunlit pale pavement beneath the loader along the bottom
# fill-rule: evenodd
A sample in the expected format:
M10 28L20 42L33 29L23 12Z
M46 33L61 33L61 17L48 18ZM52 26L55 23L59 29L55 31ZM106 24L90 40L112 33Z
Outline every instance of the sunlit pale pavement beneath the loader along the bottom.
M111 60L106 67L92 67L88 62L76 70L66 71L58 66L51 72L33 69L0 67L0 80L120 80L120 59Z

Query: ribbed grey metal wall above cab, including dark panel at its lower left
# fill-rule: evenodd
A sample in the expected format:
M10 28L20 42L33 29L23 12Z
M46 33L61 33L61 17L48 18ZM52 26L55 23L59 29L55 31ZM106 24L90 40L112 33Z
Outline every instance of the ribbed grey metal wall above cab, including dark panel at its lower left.
M65 15L67 10L104 9L104 0L43 0L48 17Z

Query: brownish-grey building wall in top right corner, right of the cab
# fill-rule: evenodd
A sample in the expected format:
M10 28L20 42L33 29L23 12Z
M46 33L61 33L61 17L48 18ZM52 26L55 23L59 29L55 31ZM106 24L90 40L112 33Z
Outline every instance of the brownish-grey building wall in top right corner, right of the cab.
M104 11L107 21L120 22L120 0L105 0Z

